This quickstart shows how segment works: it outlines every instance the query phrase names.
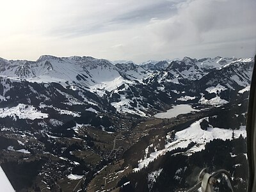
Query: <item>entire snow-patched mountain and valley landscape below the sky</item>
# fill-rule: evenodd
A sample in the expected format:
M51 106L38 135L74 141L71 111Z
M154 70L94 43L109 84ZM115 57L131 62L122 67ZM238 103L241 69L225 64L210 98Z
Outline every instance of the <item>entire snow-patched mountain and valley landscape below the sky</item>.
M232 145L246 138L252 58L113 63L0 58L0 163L13 188L179 191L191 186L196 159L214 170L202 157L213 156L212 145L227 144L234 164L245 158ZM238 190L246 177L234 180Z

